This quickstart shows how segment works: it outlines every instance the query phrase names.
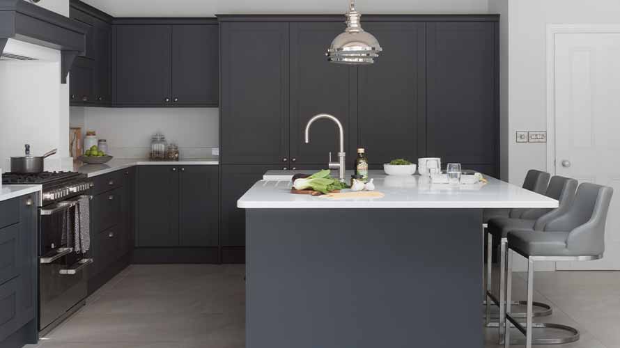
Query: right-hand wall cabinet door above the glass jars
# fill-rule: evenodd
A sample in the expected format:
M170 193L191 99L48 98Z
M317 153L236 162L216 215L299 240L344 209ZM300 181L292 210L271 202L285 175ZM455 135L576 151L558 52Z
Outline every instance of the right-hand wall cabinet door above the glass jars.
M219 28L172 26L172 102L212 105L219 102Z

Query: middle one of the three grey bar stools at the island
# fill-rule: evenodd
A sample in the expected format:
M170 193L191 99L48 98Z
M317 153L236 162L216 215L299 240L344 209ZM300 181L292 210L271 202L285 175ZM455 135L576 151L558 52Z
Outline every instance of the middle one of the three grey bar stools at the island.
M549 221L552 221L557 216L561 216L568 212L568 209L573 205L575 200L575 190L577 189L577 180L569 179L568 177L554 176L549 182L545 196L553 198L559 201L559 206L555 209L520 209L518 213L520 218L495 218L490 219L488 222L488 253L493 252L493 241L495 238L500 239L499 243L499 299L497 294L493 294L492 285L492 265L487 263L487 282L486 282L486 326L499 327L499 343L504 338L504 310L505 301L504 296L506 292L504 290L504 276L506 274L506 238L508 232L511 230L526 229L542 231ZM513 209L514 210L514 209ZM511 212L512 214L512 212ZM491 302L495 303L499 307L499 323L490 322L490 306ZM525 305L526 301L513 301L511 304ZM551 315L551 307L546 303L534 302L533 306L543 308L534 312L534 317L543 317ZM513 317L525 317L525 313L513 313ZM536 342L538 343L538 342Z

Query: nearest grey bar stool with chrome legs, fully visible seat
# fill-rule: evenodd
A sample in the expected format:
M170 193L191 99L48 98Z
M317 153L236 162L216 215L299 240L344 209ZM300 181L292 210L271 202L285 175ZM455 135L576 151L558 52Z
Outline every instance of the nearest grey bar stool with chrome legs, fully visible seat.
M575 202L568 212L545 223L543 231L512 230L508 233L506 253L506 319L504 321L504 347L510 346L512 323L525 335L525 347L532 348L533 328L553 328L568 331L566 338L541 338L543 344L561 344L579 340L579 331L571 326L534 324L534 262L536 261L589 261L603 258L605 251L605 221L613 195L611 187L597 184L580 184ZM512 253L527 258L527 313L525 327L511 311Z

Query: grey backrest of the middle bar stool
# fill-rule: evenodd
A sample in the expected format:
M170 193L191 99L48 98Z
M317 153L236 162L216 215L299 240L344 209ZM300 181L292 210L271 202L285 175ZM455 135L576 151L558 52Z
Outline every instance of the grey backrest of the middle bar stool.
M566 214L571 209L575 201L575 191L577 190L577 180L568 177L555 175L549 182L549 187L545 196L558 201L559 205L555 209L527 209L521 215L521 219L536 220L534 230L542 231L549 221Z

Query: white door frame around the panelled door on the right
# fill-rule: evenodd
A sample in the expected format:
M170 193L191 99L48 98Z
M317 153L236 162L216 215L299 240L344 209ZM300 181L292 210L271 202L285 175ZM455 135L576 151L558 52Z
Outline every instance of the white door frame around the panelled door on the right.
M547 171L555 175L555 36L561 33L620 33L620 24L547 24Z

